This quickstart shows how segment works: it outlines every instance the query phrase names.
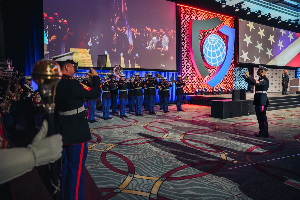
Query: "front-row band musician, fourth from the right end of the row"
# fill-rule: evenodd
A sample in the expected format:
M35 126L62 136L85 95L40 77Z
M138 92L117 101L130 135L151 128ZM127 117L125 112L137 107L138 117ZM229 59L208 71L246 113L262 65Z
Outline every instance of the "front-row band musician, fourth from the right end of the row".
M134 96L135 96L135 115L142 116L142 105L143 105L143 90L142 85L145 85L144 79L140 79L140 73L134 73Z

